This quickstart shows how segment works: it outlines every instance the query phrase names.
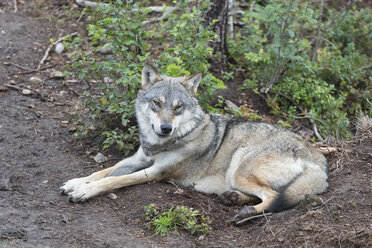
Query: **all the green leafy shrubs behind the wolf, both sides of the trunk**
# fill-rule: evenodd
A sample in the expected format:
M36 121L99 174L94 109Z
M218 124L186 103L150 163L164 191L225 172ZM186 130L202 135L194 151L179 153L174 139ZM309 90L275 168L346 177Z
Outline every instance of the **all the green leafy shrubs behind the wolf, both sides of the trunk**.
M354 1L337 6L300 0L250 3L229 40L233 62L222 65L223 75L211 73L210 44L218 40L211 25L218 20L204 21L210 1L175 1L179 9L156 23L146 23L146 1L141 6L130 0L107 2L87 9L93 17L89 36L68 42L76 53L66 71L99 82L96 93L84 96L88 113L77 119L77 135L99 132L105 148L116 145L125 153L134 149L133 101L149 58L168 76L202 71L198 97L212 112L222 113L225 106L223 98L211 104L216 90L243 72L245 80L234 82L240 90L261 95L272 113L286 121L303 119L317 127L314 139L350 137L356 116L372 116L372 11ZM107 48L112 53L99 53Z

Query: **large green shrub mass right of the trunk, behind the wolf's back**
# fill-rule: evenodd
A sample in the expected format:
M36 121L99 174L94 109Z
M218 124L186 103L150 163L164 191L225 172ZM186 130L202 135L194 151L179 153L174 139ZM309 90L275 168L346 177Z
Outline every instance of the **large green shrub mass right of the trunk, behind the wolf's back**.
M241 88L265 93L273 112L289 120L305 117L324 136L348 137L350 116L372 113L372 60L363 54L372 46L371 14L320 1L256 4L230 42L249 75Z

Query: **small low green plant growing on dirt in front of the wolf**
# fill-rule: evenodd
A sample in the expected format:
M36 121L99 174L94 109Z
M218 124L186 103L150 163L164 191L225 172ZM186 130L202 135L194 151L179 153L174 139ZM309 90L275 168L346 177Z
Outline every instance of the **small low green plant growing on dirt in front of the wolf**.
M177 233L178 229L184 229L191 234L208 234L211 223L208 217L200 215L198 210L184 206L171 207L169 211L160 213L155 204L144 207L145 220L148 225L160 235Z

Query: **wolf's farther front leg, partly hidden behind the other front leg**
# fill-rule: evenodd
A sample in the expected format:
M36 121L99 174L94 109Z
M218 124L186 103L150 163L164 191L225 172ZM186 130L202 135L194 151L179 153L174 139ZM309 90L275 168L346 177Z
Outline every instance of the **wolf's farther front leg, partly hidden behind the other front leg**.
M101 178L107 176L131 174L133 172L147 168L151 165L151 159L144 154L142 148L140 147L133 156L125 158L124 160L120 161L110 168L95 172L87 177L74 178L65 182L64 185L60 188L61 193L68 194L74 191L76 188L79 188L81 185L91 183Z

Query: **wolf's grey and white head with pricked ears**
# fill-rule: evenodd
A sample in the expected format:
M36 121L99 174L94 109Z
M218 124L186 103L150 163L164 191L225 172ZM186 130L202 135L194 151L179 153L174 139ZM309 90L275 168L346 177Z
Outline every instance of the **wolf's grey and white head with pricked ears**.
M191 132L204 112L195 97L202 74L167 77L146 64L142 70L142 90L136 99L141 135L158 143Z

